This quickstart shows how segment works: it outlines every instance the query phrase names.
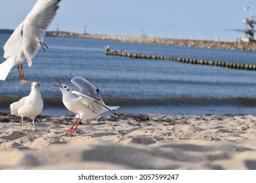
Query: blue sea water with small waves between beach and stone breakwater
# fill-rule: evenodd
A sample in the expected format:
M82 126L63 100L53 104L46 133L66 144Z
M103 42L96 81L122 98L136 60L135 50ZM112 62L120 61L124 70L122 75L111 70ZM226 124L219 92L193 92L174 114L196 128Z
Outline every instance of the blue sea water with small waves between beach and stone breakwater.
M0 46L9 36L0 34ZM109 44L111 50L124 52L252 64L256 64L256 52L55 37L45 37L45 43L49 50L40 48L31 68L24 62L29 84L19 83L16 67L0 82L0 112L9 112L9 105L28 95L31 82L37 81L45 103L41 114L72 114L53 84L58 79L77 90L70 80L82 76L100 89L107 105L119 105L119 113L256 114L256 71L106 56L104 47ZM3 49L0 56L0 62L5 61Z

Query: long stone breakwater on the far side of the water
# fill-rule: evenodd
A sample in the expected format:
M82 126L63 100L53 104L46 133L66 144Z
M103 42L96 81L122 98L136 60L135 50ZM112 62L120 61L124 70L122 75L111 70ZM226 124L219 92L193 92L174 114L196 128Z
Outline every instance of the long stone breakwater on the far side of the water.
M256 51L256 42L224 42L224 41L199 41L189 39L167 39L156 37L134 37L134 36L117 36L117 35L91 35L78 34L69 32L51 32L47 33L49 37L74 37L81 39L98 39L106 41L120 41L120 42L136 42L144 44L162 44L169 46L188 46L199 48L219 48L229 50L246 50Z

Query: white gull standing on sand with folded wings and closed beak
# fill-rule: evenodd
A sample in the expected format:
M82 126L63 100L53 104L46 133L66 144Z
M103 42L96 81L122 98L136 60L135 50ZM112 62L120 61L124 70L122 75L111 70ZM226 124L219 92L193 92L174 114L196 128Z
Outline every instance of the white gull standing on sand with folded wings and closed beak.
M35 127L35 117L43 110L43 99L41 97L39 83L32 82L30 95L12 103L10 108L12 115L22 117L22 126L24 124L23 118L28 117L33 120L33 127Z

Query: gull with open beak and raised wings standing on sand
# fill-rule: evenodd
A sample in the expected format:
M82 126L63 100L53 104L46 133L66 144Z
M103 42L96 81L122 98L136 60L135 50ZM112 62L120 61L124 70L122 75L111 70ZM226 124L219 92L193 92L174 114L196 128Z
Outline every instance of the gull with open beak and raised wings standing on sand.
M68 132L74 133L80 124L82 119L89 120L96 118L98 115L110 110L110 112L116 114L114 110L119 107L110 107L105 105L100 96L98 88L93 86L91 82L80 76L72 78L71 82L79 88L78 91L73 91L72 88L66 84L62 84L57 80L60 86L55 85L62 92L62 101L68 110L77 114L75 123L67 129ZM75 94L75 95L74 95ZM74 128L74 125L75 128Z

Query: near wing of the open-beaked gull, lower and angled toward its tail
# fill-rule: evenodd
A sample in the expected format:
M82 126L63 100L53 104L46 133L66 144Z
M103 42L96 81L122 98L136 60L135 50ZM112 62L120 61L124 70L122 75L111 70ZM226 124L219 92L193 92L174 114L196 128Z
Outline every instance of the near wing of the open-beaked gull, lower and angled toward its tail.
M110 107L106 106L103 101L98 101L95 98L93 98L83 92L72 91L72 93L83 98L83 103L88 105L90 107L90 109L93 110L95 113L98 113L98 112L96 112L96 110L98 110L98 108L99 108L98 105L101 105L102 107L106 108L107 110L110 110L110 112L112 112L113 114L117 115L116 112L114 110L112 110ZM92 101L95 103L91 103Z

